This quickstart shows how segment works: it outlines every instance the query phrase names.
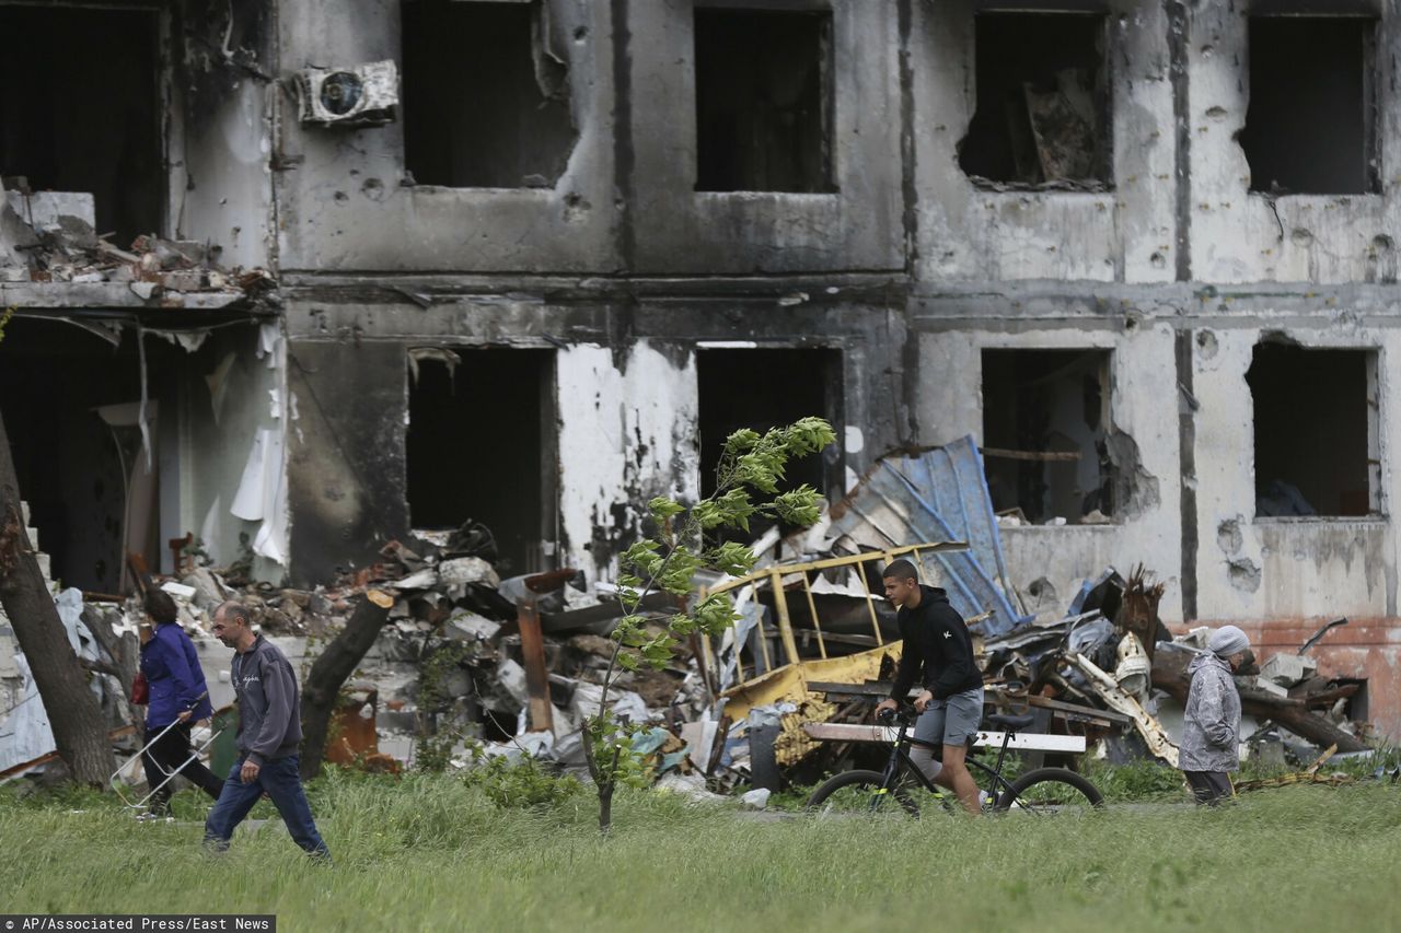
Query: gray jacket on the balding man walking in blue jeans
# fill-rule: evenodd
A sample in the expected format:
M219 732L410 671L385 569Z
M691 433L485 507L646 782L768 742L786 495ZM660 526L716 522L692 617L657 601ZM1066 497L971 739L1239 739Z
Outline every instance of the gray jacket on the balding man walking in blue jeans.
M287 656L259 635L248 651L234 654L233 675L240 754L255 765L296 755L301 744L301 698Z

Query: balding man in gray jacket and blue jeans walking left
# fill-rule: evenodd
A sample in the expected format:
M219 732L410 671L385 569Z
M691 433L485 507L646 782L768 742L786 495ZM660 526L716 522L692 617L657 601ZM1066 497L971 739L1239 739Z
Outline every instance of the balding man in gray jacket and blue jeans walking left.
M235 651L238 761L205 821L205 843L220 852L227 849L234 828L266 793L293 841L329 860L297 770L301 700L291 664L272 642L254 633L248 609L238 602L224 602L214 611L214 637Z

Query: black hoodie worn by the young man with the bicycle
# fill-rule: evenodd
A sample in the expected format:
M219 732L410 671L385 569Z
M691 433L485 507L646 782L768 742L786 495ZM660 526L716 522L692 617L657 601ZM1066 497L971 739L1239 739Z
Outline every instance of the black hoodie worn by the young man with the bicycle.
M918 607L902 608L895 615L905 646L891 698L902 700L909 696L916 678L934 699L979 689L982 674L972 660L972 636L962 616L948 605L948 594L939 587L920 584L919 593Z

